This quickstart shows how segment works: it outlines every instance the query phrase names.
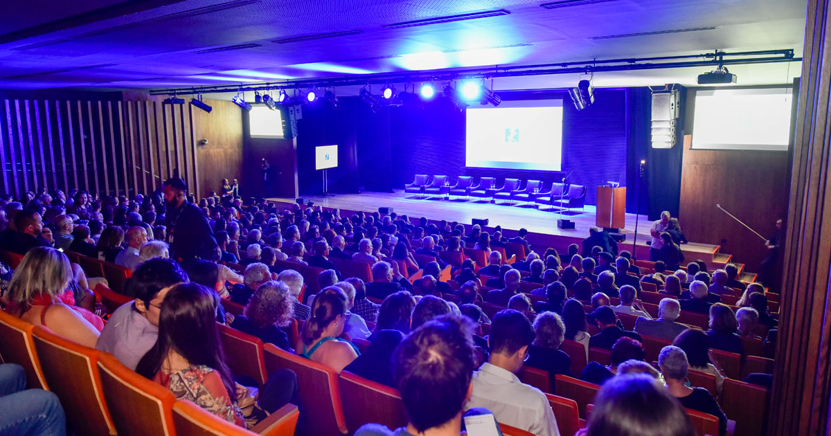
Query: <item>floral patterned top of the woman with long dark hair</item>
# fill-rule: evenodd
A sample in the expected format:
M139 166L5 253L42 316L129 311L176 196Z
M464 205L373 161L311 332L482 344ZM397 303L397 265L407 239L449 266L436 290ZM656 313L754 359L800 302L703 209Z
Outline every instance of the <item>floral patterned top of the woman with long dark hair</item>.
M228 389L219 373L205 365L191 365L173 374L156 373L153 381L173 392L176 399L184 399L202 409L245 428L243 413L231 403Z

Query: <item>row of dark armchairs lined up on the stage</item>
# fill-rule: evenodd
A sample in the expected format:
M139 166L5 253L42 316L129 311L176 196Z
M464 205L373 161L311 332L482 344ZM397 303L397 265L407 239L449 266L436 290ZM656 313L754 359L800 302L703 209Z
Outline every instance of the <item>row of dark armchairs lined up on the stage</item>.
M482 198L489 199L491 203L504 200L513 203L529 203L537 207L538 204L552 206L554 208L584 208L586 203L586 187L581 184L558 184L553 183L549 189L543 190L543 182L539 180L528 180L525 187L520 189L522 181L519 179L505 179L501 188L496 188L496 178L481 177L479 184L474 186L473 177L460 175L456 184L450 184L450 178L446 175L434 175L432 179L428 174L416 174L416 179L411 184L404 185L404 192L407 194L419 194L420 198L435 198L445 195L456 198Z

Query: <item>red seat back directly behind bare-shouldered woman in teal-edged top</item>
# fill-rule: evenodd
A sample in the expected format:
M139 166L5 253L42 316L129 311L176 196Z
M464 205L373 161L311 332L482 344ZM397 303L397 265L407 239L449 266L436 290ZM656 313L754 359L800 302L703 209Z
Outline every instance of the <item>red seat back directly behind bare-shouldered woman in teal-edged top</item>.
M273 344L263 348L268 373L286 368L297 375L297 404L302 409L297 434L346 434L337 373L326 365L280 350Z

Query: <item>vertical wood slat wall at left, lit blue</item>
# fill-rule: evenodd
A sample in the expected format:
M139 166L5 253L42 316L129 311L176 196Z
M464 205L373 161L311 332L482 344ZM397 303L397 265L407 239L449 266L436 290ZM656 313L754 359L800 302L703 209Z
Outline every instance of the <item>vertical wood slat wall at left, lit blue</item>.
M21 198L77 188L132 196L152 192L178 170L199 197L192 108L176 106L0 100L0 193Z

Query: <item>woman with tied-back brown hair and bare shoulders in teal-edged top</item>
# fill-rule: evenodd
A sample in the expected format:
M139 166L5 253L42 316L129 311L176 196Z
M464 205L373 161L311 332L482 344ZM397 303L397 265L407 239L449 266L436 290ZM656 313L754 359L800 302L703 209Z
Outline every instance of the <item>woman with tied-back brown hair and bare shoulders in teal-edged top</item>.
M346 326L348 299L338 287L327 287L314 299L312 317L304 324L296 353L340 373L358 356L352 342L341 336Z

